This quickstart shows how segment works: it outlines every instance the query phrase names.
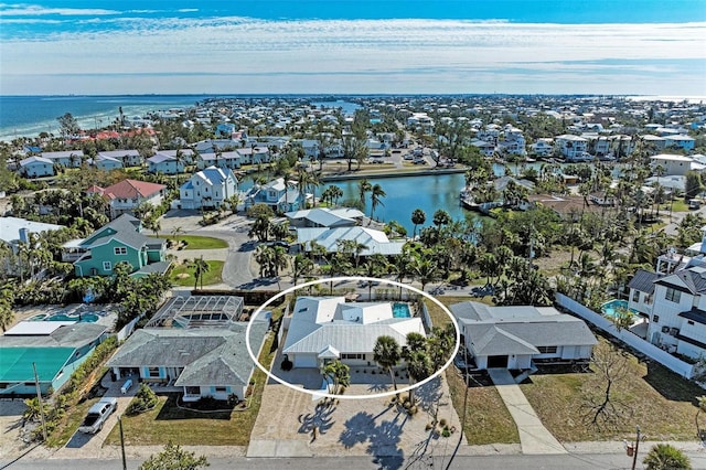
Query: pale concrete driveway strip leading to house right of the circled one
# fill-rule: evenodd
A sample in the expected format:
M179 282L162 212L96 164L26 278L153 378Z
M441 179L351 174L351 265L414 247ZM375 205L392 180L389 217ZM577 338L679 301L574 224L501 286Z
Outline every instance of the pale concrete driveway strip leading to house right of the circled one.
M510 372L505 368L489 368L488 373L517 425L522 453L567 453L564 446L544 427Z

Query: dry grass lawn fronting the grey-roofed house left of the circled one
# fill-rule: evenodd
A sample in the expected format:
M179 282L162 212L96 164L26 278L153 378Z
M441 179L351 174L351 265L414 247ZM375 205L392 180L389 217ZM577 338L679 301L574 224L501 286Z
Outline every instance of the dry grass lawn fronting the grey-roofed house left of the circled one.
M275 335L269 334L259 355L261 364L270 364ZM257 419L263 389L267 376L259 368L253 374L255 389L247 399L245 410L204 415L176 408L175 395L160 396L159 404L150 412L122 418L125 444L128 446L157 446L172 441L180 446L247 446ZM105 444L119 445L118 427L114 427Z

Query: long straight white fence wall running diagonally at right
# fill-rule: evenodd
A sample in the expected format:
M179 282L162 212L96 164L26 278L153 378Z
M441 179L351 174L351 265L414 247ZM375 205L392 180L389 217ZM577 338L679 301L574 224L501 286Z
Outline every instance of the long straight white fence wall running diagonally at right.
M619 330L618 327L616 327L616 324L612 321L608 320L606 317L599 313L596 313L595 311L577 302L576 300L569 297L566 297L563 293L557 292L556 302L560 307L569 310L570 312L577 314L584 320L600 328L605 332L619 339L620 341L624 342L631 348L634 348L635 350L640 351L644 355L659 362L660 364L680 374L681 376L685 378L692 378L694 376L693 364L689 364L687 362L680 360L678 357L673 356L666 351L661 350L660 348L655 346L654 344L651 344L650 342L643 340L642 338L638 337L637 334L630 332L624 328Z

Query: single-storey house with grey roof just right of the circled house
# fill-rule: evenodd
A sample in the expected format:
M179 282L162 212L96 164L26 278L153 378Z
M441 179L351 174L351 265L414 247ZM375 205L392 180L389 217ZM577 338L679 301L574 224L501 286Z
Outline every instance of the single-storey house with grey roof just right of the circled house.
M451 306L475 368L526 370L543 362L587 362L596 337L584 320L553 307Z

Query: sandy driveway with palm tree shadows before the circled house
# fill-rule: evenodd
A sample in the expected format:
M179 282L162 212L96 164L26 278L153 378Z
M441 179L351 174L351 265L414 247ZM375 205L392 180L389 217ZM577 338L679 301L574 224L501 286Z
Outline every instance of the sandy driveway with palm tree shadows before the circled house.
M345 395L370 394L370 385L354 384ZM278 447L296 447L300 455L405 460L429 456L437 449L448 453L458 442L461 426L446 382L436 378L419 387L415 395L418 413L409 416L400 406L392 404L389 397L339 399L325 405L310 394L269 383L250 436L248 456L258 455L260 449L277 453ZM448 427L456 429L451 437L427 429L435 413L438 420L445 419Z

